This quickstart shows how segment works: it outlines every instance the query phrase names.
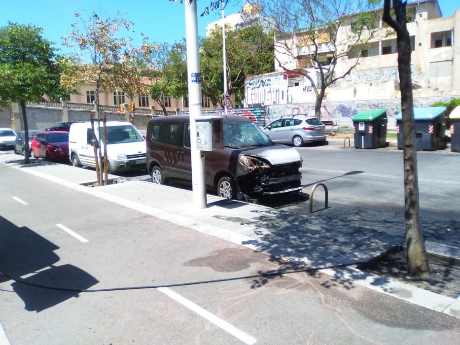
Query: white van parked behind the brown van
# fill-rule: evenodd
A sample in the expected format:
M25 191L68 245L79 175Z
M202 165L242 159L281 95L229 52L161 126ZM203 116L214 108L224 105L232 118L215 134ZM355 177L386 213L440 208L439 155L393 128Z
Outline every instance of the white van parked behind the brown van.
M128 122L107 121L107 159L109 172L124 172L146 169L145 139L137 129ZM103 125L100 123L101 138ZM96 137L98 122L94 122ZM91 122L76 122L69 131L69 158L74 167L94 167L94 148ZM101 141L101 152L104 156L104 143Z

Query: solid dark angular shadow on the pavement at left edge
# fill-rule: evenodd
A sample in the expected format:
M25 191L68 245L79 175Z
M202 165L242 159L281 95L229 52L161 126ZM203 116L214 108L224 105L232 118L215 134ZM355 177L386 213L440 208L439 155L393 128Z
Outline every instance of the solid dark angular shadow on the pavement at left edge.
M0 228L0 283L14 280L11 287L27 311L51 308L98 283L78 267L56 266L60 258L54 251L59 247L33 230L17 227L1 216Z

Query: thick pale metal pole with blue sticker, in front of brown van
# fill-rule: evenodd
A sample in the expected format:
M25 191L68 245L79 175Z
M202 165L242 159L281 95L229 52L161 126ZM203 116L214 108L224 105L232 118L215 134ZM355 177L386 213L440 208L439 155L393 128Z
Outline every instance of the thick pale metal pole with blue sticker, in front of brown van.
M196 1L184 1L187 42L188 102L190 110L190 154L192 160L193 206L206 208L205 159L197 149L196 118L202 116L201 73L198 51L198 17Z

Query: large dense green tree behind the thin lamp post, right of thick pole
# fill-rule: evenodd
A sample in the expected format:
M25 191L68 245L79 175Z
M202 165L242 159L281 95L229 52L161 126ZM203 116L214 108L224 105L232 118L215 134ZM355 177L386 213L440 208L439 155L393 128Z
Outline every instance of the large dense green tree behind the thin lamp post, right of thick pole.
M228 92L241 103L246 75L273 71L273 33L257 23L239 30L227 29L225 44ZM203 95L223 107L222 28L216 27L203 40L200 62Z

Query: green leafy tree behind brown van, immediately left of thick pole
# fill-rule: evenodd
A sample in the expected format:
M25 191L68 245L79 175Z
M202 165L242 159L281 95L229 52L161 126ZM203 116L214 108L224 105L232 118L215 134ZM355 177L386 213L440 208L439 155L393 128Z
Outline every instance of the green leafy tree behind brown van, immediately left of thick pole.
M187 97L187 63L185 42L153 43L149 59L143 63L142 74L150 81L148 91L166 115L165 96Z

